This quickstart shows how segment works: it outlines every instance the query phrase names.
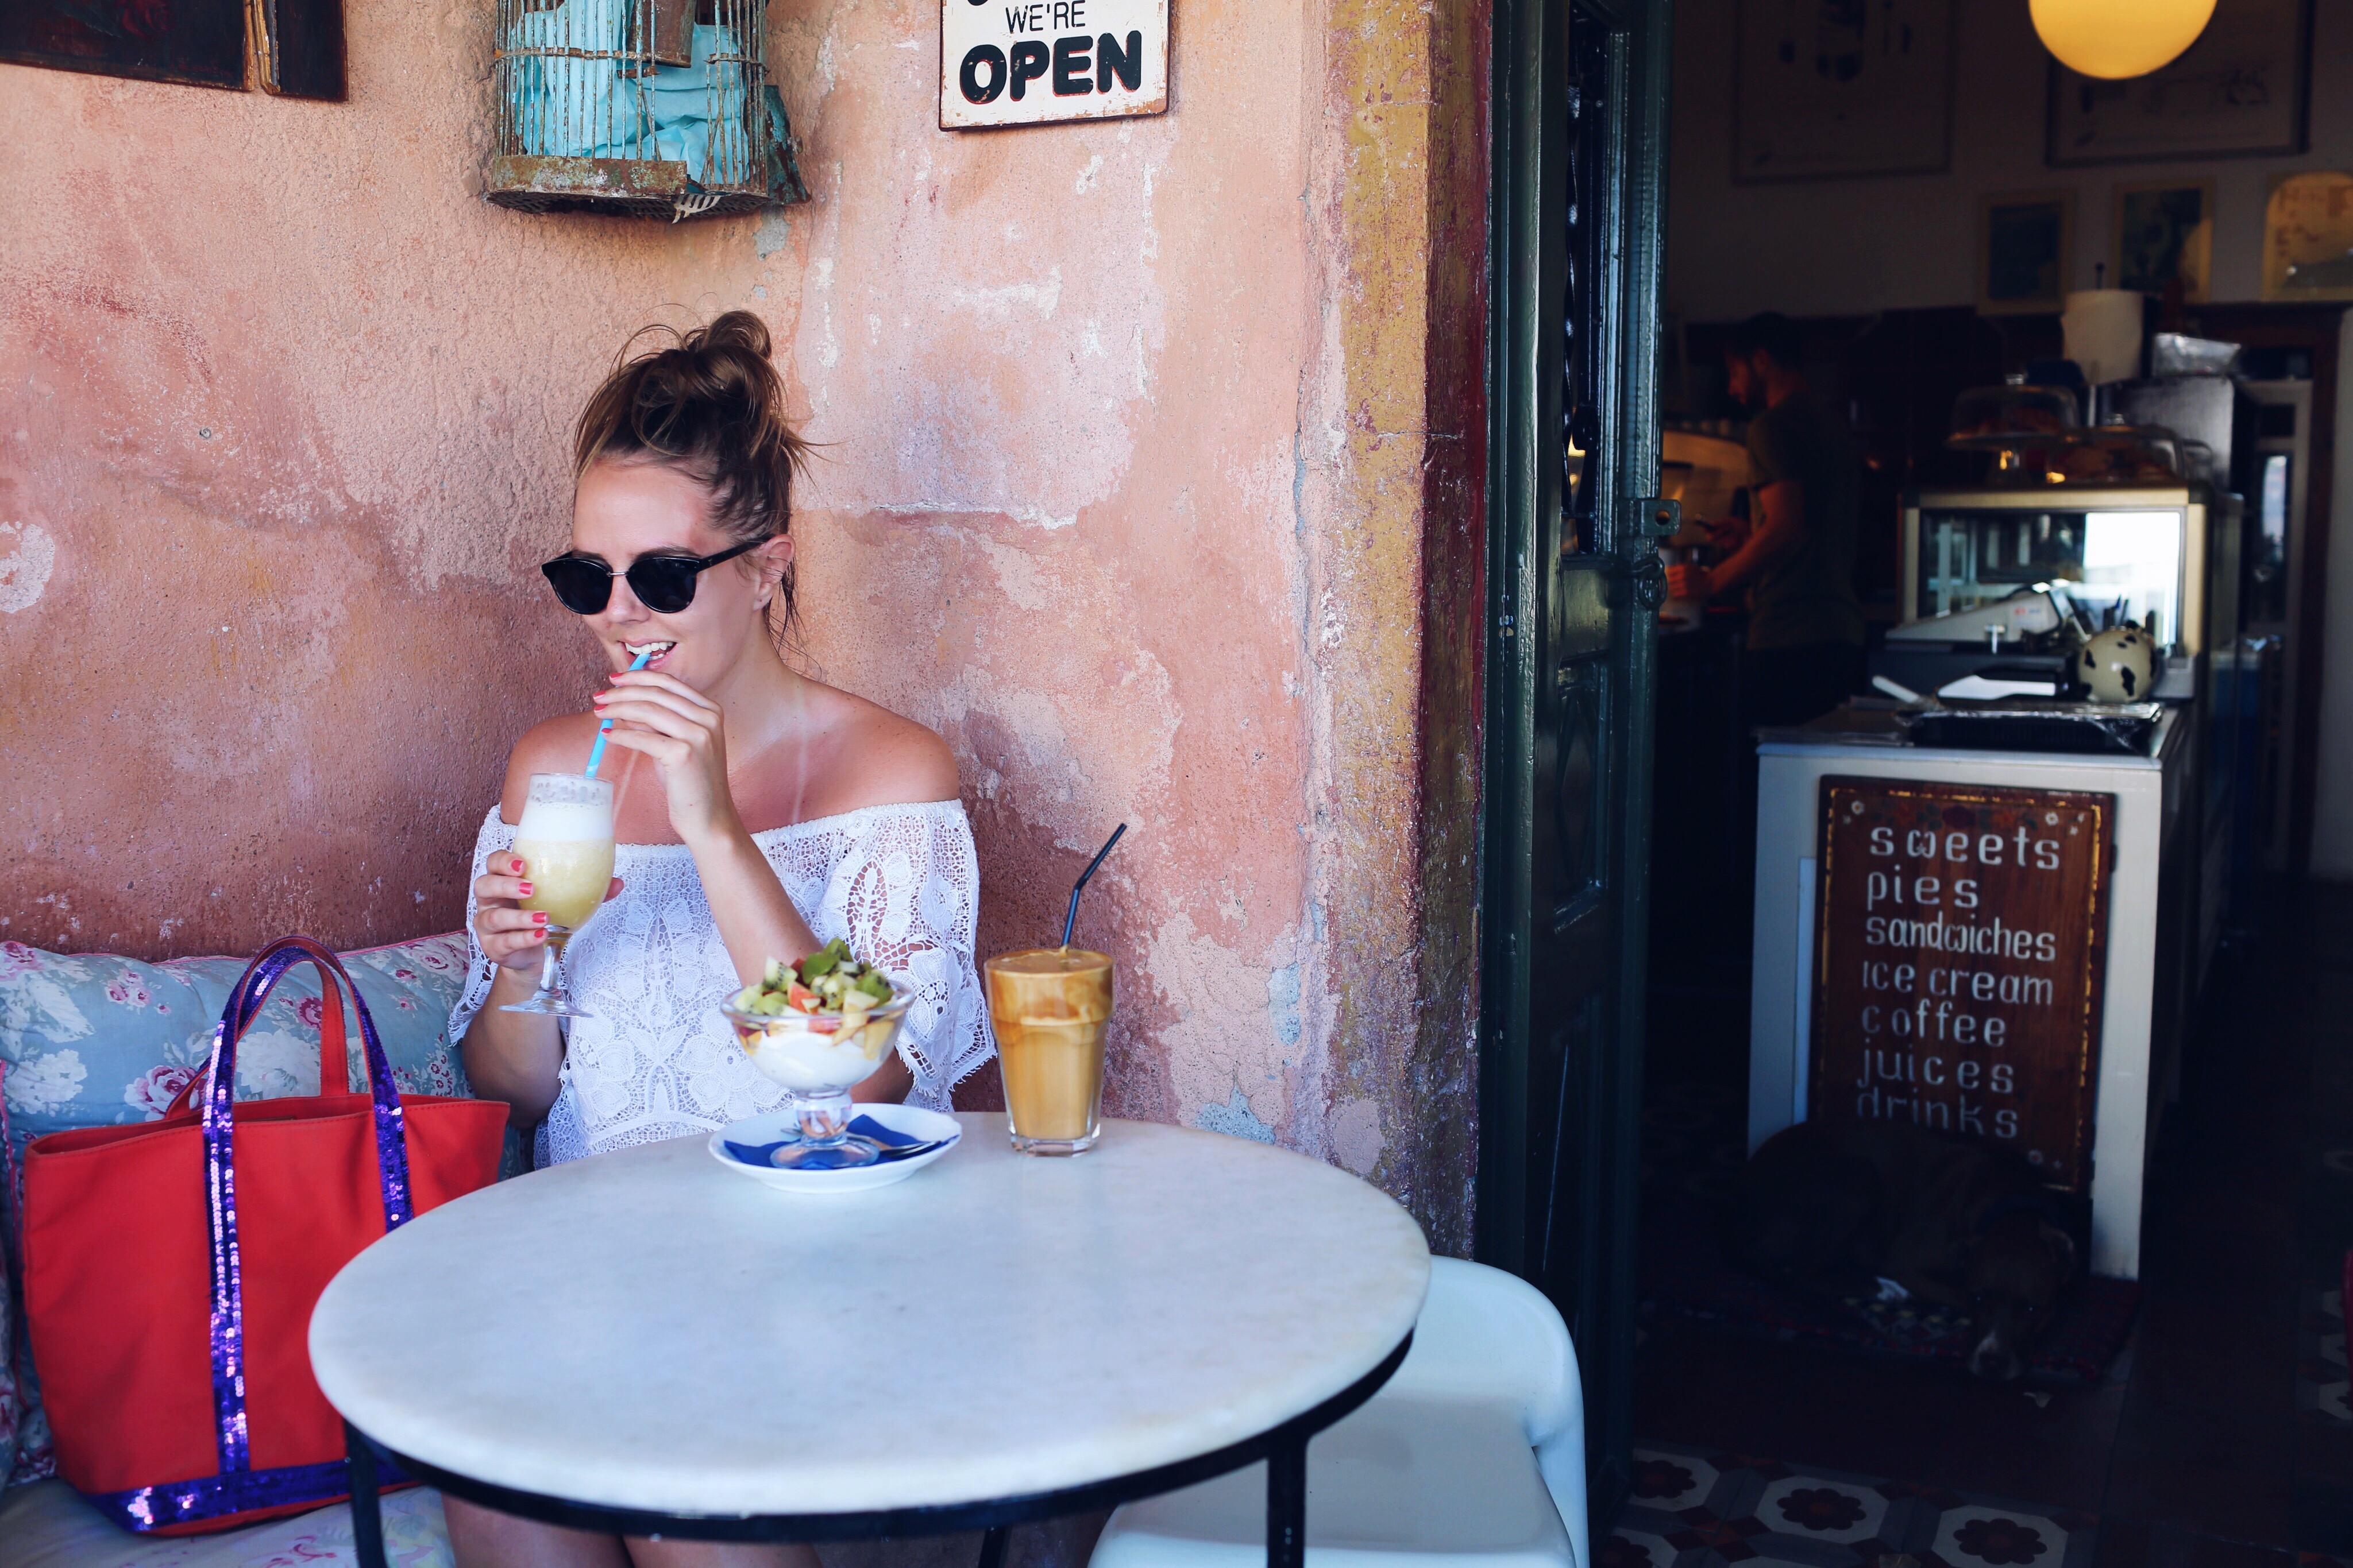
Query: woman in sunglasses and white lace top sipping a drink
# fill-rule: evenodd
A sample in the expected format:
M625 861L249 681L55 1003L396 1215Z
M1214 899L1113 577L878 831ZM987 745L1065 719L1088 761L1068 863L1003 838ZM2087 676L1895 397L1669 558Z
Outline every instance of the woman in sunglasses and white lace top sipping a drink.
M642 334L640 334L642 336ZM979 870L939 736L795 672L791 487L805 444L784 418L767 327L734 310L626 357L572 447L558 597L612 686L595 712L515 745L473 853L473 983L449 1018L466 1077L536 1126L536 1164L678 1138L779 1110L720 1004L833 938L913 992L899 1060L861 1100L946 1107L988 1058L972 969ZM631 341L635 346L635 339ZM631 670L652 651L642 670ZM565 952L591 1013L565 1030L501 1011L532 994L546 917L513 853L532 773L579 773L600 719L614 802L607 905ZM560 1530L445 1500L461 1568L798 1563L807 1547L715 1547Z

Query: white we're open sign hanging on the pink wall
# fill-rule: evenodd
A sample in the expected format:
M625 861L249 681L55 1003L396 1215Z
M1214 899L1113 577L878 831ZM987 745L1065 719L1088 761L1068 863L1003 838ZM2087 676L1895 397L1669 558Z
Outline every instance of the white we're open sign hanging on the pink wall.
M941 0L939 129L1169 106L1169 0Z

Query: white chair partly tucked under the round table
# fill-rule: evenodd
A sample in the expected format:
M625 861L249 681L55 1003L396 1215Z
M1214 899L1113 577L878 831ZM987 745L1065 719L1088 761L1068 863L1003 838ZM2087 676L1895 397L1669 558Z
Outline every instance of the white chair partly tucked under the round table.
M1398 1375L1308 1443L1308 1568L1591 1568L1569 1331L1522 1279L1431 1260ZM1266 1465L1122 1505L1089 1568L1266 1563Z

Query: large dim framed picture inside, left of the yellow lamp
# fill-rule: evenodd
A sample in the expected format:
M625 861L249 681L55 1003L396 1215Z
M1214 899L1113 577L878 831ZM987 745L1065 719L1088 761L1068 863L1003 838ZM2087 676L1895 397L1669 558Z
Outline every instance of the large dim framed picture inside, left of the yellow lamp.
M1953 167L1955 0L1739 0L1732 181Z

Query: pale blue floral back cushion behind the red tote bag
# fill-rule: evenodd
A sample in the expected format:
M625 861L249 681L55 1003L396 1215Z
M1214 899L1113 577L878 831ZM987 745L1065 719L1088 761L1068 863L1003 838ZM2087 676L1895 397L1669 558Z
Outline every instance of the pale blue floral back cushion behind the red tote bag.
M344 969L367 999L400 1091L466 1093L466 1072L449 1048L449 1009L466 985L466 936L346 952ZM172 1095L202 1074L212 1025L242 973L245 959L141 964L0 943L0 1173L7 1178L0 1197L9 1237L24 1145L75 1126L158 1121ZM320 1018L318 971L296 964L238 1041L238 1098L318 1093ZM348 1081L358 1084L358 1030L346 1032L346 1058ZM0 1305L0 1326L12 1309L14 1300ZM14 1356L0 1354L0 1483L52 1474L38 1382L21 1335L14 1345Z

